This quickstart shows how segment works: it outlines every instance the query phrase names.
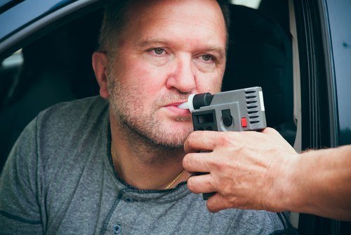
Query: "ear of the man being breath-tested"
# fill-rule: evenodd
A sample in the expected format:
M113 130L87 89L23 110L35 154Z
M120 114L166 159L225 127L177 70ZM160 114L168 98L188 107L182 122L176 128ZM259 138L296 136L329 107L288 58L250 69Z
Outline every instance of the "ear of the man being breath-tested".
M95 51L93 53L92 63L93 70L95 72L96 80L98 80L98 84L100 87L100 96L103 99L109 98L110 94L107 91L107 65L109 59L107 58L107 54Z

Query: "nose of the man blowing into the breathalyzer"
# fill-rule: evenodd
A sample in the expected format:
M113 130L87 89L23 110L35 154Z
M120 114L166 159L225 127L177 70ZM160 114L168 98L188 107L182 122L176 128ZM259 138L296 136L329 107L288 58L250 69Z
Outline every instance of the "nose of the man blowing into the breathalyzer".
M173 64L173 71L168 75L166 87L176 88L182 93L189 93L196 88L196 76L192 58L183 56L177 58Z

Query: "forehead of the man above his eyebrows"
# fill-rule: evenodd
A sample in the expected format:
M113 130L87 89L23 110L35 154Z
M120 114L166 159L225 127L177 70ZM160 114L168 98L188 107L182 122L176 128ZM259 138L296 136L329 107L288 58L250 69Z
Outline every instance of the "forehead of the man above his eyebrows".
M165 37L189 46L225 44L225 21L215 0L136 1L127 15L123 35L133 42Z

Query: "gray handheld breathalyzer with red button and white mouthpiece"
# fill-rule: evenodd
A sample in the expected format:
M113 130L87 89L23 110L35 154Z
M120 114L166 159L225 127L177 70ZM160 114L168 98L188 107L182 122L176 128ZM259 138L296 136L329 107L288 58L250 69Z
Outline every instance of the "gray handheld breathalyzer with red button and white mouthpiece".
M267 127L261 87L192 94L178 108L190 110L194 131L241 132ZM204 200L211 195L213 193L203 193Z

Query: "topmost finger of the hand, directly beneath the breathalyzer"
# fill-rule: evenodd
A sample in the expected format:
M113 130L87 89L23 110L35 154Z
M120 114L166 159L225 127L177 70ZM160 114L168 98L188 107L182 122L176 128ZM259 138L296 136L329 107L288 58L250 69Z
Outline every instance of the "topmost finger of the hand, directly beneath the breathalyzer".
M184 143L185 153L194 153L199 151L213 151L216 147L220 133L211 131L197 131L190 133Z

